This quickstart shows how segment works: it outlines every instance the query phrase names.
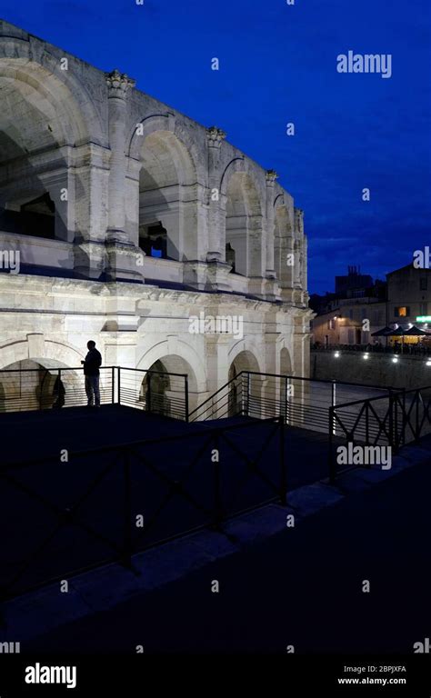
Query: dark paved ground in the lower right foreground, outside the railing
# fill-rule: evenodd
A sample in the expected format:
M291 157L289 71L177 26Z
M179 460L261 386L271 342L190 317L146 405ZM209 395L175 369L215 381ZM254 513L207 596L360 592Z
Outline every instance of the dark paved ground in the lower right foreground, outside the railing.
M413 653L431 635L430 493L431 460L180 581L38 637L32 647ZM211 591L214 580L219 593Z

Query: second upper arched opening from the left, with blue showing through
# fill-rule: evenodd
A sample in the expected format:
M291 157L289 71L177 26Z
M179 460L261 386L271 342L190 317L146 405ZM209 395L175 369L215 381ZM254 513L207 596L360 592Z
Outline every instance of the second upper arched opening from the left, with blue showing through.
M147 135L139 174L139 246L150 257L197 257L195 165L170 131Z

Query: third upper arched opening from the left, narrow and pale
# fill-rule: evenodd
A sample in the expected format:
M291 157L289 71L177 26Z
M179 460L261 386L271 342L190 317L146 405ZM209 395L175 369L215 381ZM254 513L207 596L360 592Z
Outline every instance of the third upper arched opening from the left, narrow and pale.
M226 262L244 276L263 275L262 208L250 175L236 172L226 187Z

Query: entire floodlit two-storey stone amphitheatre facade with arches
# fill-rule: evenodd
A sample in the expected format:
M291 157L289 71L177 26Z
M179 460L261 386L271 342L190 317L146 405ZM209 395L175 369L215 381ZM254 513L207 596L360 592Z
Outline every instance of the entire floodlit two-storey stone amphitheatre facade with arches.
M105 365L188 374L195 404L234 370L307 375L303 214L274 171L4 21L0 101L0 369L95 339ZM241 336L191 333L200 314Z

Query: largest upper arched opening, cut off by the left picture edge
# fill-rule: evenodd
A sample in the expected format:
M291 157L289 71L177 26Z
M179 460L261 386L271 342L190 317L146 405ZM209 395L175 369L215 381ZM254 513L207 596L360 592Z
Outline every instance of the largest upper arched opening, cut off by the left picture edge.
M19 58L0 59L0 101L0 234L70 242L69 149L85 138L75 101L41 65Z

